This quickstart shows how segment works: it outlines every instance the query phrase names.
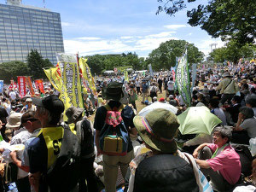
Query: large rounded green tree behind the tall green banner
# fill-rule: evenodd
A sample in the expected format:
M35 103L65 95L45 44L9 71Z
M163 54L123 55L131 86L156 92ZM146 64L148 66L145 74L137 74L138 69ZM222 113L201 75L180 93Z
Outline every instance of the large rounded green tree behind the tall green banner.
M198 63L203 60L204 54L195 47L194 44L189 44L184 40L170 40L160 44L160 47L154 49L147 60L154 70L170 69L176 64L176 57L182 56L187 45L189 63Z

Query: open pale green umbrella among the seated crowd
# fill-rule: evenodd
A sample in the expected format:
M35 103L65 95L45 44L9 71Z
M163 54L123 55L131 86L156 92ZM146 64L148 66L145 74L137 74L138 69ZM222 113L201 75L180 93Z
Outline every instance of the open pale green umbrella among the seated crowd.
M222 123L222 121L205 106L187 108L186 111L177 116L177 119L180 123L178 129L183 135L199 133L211 135L212 129Z

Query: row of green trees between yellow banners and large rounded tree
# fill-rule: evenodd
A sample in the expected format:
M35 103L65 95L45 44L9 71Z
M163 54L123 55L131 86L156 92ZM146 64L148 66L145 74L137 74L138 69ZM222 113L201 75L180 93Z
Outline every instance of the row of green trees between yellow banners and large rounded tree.
M121 55L91 55L86 58L92 74L101 74L105 70L113 70L114 67L132 66L133 70L145 67L144 58L131 52Z

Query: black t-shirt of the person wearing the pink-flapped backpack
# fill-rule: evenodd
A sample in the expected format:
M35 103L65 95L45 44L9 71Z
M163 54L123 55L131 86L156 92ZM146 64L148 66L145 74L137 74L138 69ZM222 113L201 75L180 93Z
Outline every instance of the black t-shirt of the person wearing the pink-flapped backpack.
M119 108L120 105L121 105L120 102L116 102L116 101L108 102L108 106L110 108L114 108L114 107ZM107 111L108 111L107 108L105 108L104 106L97 109L95 119L94 119L94 128L97 131L102 131L102 128L105 124L105 118L107 115ZM135 117L135 114L133 112L133 109L130 106L125 106L121 115L122 115L122 119L124 120L126 129L129 129L129 127L130 128L135 127L135 125L133 124L133 118ZM133 147L131 144L131 139L129 137L127 152L130 152L132 150L132 148Z

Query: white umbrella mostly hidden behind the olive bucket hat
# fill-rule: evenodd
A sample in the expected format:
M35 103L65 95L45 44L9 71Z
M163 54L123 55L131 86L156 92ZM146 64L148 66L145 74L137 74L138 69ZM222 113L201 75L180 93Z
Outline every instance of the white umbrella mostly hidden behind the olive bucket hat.
M174 106L163 103L163 102L153 102L151 105L148 105L147 107L143 108L138 115L145 117L147 113L153 111L156 108L165 108L166 110L171 111L172 113L177 113L177 108Z

